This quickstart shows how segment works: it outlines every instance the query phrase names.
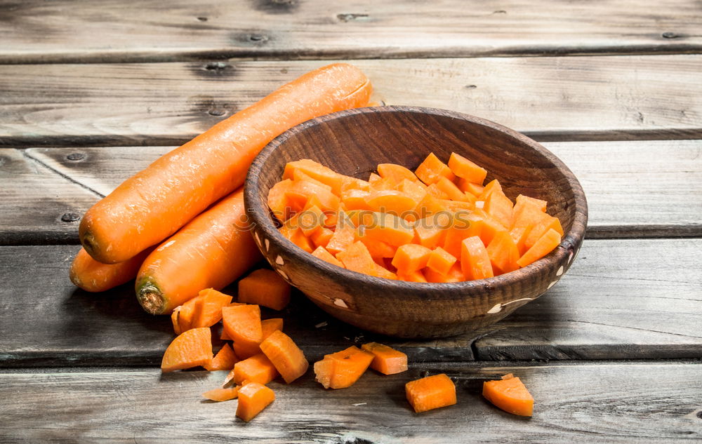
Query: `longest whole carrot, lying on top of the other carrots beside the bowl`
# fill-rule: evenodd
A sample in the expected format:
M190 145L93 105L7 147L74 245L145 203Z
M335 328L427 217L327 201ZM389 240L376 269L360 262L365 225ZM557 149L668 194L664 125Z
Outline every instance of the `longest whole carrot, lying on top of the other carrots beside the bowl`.
M274 137L313 117L368 103L371 83L344 63L315 69L154 161L86 212L81 243L114 264L163 241L244 183Z

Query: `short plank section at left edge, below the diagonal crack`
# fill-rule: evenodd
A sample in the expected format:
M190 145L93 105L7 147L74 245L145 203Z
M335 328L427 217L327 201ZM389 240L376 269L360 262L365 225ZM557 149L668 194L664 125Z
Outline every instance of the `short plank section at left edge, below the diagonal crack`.
M98 194L18 149L0 149L0 245L75 243Z

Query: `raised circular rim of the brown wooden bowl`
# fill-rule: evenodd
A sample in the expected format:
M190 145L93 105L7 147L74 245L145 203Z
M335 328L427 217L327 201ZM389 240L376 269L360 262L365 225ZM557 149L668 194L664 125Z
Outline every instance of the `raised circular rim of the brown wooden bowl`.
M534 152L542 156L544 159L548 160L557 168L559 173L567 178L569 186L574 192L575 197L574 208L571 209L571 211L574 212L574 220L569 231L564 234L561 243L550 254L532 264L527 265L527 267L510 271L509 273L501 274L493 278L463 281L458 283L416 283L378 278L336 267L329 262L314 257L285 238L273 224L270 211L267 208L266 197L263 196L260 190L259 177L262 173L262 168L265 165L266 160L272 156L274 152L279 149L279 147L284 145L287 140L296 137L296 135L307 130L307 128L312 128L328 121L333 121L334 119L345 119L348 116L353 116L356 114L386 112L400 114L430 114L461 119L470 123L475 123L479 126L486 126L488 128L498 130L508 137L512 137L518 142L521 142L522 144L533 149ZM402 161L398 160L398 163L402 164ZM329 168L334 169L333 165L328 166ZM416 300L462 300L465 299L465 297L468 297L468 293L472 295L482 293L480 289L484 290L484 292L491 292L497 288L518 284L527 280L529 277L534 277L536 275L544 275L545 277L545 274L549 274L552 269L555 269L558 264L561 264L561 267L556 273L555 281L548 285L548 288L550 288L550 286L555 284L557 279L564 273L563 267L569 266L574 259L574 255L578 253L577 250L585 236L585 227L588 220L587 201L585 200L585 194L581 184L578 182L571 170L569 170L569 168L560 159L558 159L555 154L552 154L538 142L521 133L517 133L515 130L480 117L471 116L470 114L453 112L446 109L409 106L347 109L332 114L326 114L315 119L310 119L309 121L300 123L290 130L287 130L285 133L282 133L267 144L266 147L261 150L258 156L256 156L256 159L254 159L246 177L244 202L247 209L247 215L249 215L249 220L253 223L253 234L256 237L258 246L261 248L263 255L269 262L271 262L271 265L274 268L279 269L279 266L282 264L276 264L276 257L270 257L270 253L273 253L270 248L263 248L263 241L258 238L259 233L260 236L263 236L264 240L270 239L270 243L276 246L277 250L282 250L284 252L283 254L286 256L286 260L298 261L298 264L302 264L302 268L314 267L323 271L325 275L335 276L336 280L343 282L347 288L349 288L349 286L352 288L353 285L357 285L358 288L373 285L374 288L383 292L388 292L388 294L402 294L406 299ZM269 247L269 245L266 246ZM275 253L275 255L279 254L280 253ZM357 297L359 296L360 295L357 295Z

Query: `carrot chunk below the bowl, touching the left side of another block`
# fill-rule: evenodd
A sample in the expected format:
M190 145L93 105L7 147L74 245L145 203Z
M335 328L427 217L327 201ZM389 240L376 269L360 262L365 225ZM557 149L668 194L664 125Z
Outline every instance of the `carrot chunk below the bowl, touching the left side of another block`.
M345 389L358 381L373 358L373 354L352 345L314 363L314 375L325 389Z

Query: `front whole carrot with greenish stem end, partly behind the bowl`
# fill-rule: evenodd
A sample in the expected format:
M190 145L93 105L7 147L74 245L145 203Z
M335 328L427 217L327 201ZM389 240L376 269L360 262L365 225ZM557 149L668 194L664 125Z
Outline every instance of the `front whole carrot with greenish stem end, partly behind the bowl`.
M261 260L239 189L188 222L143 262L136 296L150 314L168 314L204 288L220 290Z

